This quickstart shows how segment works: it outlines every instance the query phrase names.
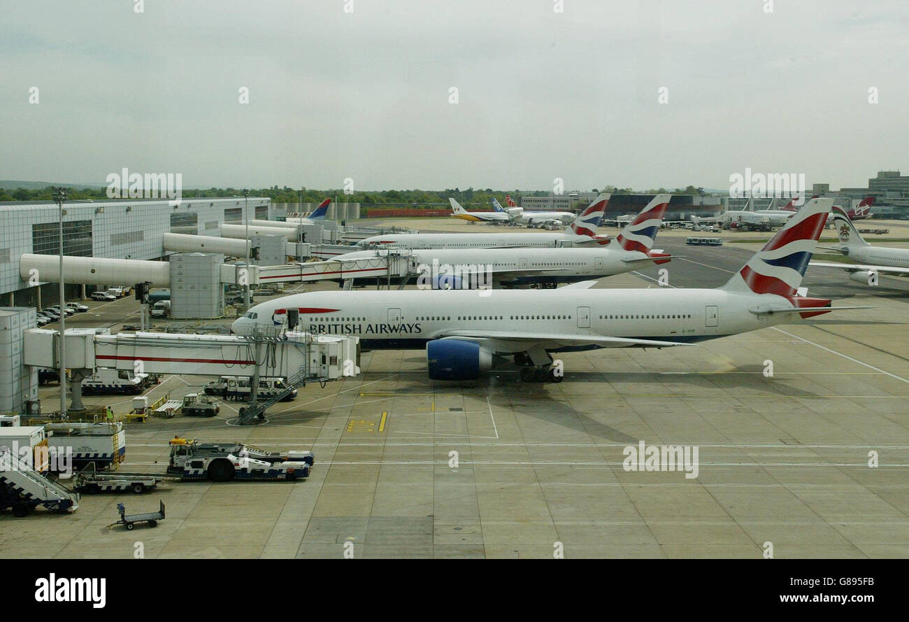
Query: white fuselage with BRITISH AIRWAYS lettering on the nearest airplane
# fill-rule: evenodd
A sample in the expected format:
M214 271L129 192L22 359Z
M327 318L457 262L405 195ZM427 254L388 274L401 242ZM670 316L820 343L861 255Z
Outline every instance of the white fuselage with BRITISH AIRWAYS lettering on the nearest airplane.
M274 329L275 310L298 308L300 325L315 334L359 336L366 348L421 348L451 330L524 334L602 335L700 341L790 322L793 314L754 315L749 309L792 308L782 296L724 289L551 289L311 292L253 306L232 326L248 335L252 324ZM563 347L541 340L550 351ZM497 351L520 351L502 342ZM583 348L609 345L583 346ZM622 346L616 344L615 346Z

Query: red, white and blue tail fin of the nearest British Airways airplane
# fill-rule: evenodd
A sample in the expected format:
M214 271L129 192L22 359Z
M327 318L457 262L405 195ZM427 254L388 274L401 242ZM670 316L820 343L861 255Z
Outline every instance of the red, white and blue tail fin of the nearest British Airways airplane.
M805 203L723 289L794 297L833 205L832 198Z

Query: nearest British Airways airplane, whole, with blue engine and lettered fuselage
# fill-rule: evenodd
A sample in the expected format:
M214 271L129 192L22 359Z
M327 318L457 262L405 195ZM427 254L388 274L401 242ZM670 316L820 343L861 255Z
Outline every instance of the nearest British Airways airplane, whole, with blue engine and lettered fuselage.
M807 202L715 289L590 289L584 281L555 290L311 292L256 305L232 329L249 335L290 319L311 333L359 336L365 349L425 348L435 380L474 379L514 356L522 380L561 382L553 353L684 346L834 310L828 299L796 295L832 205Z

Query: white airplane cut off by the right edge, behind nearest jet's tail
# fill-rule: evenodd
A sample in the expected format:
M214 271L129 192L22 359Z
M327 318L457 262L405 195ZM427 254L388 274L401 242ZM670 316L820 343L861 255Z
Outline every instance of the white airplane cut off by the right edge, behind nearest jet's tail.
M842 253L844 256L861 262L859 264L840 264L834 262L813 261L812 266L842 268L849 273L849 278L857 283L877 286L878 275L909 276L909 248L888 248L871 246L864 241L855 229L852 219L840 206L832 209L834 226L841 244L837 246L820 246L826 250Z

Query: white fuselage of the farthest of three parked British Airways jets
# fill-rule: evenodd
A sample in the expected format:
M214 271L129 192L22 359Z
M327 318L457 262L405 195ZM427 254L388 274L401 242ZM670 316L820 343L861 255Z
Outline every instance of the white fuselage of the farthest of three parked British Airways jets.
M605 241L607 238L602 238ZM509 246L560 246L591 244L594 238L562 233L395 234L360 240L361 248L507 248Z

